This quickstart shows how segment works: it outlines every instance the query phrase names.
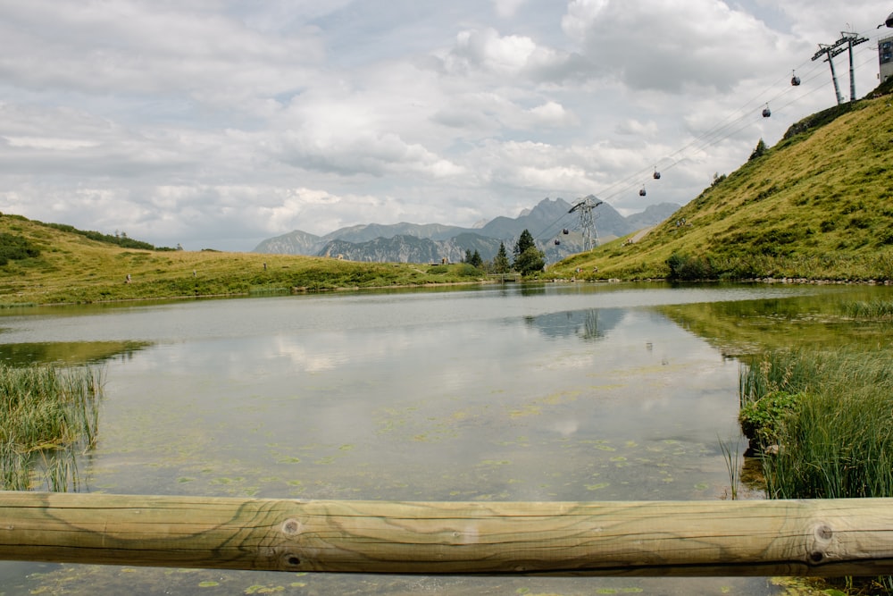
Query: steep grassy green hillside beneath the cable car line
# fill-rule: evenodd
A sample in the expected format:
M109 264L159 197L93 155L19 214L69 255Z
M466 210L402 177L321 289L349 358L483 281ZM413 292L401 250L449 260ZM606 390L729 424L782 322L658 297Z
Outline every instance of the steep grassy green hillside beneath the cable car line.
M614 240L549 273L891 280L891 161L889 96L835 106L797 122L775 147L755 149L737 172L715 180L638 242Z

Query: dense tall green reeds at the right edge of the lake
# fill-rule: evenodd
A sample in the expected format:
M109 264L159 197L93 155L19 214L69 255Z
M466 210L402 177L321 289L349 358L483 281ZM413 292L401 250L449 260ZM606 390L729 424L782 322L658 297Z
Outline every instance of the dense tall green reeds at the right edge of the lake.
M742 406L779 393L797 399L773 419L778 449L761 455L768 498L893 497L891 362L889 349L774 351L742 369ZM893 577L848 578L842 587L893 594Z

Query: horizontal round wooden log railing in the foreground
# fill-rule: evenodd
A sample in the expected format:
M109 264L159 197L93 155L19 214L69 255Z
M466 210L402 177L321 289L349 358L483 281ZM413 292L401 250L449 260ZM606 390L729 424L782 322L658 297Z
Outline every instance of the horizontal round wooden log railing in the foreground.
M0 491L0 559L426 575L893 575L893 499L388 502Z

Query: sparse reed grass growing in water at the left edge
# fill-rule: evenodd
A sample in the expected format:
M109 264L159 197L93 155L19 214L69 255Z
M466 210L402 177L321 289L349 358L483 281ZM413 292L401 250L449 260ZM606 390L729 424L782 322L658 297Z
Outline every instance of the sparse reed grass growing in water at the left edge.
M102 388L93 367L0 365L4 490L76 488L75 456L96 445Z

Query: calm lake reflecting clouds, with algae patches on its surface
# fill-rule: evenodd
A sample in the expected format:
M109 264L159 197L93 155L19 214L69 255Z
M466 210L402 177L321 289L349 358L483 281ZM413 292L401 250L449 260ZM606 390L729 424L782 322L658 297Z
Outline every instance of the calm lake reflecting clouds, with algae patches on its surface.
M10 309L0 359L104 370L77 490L724 499L739 357L889 341L893 288L520 284ZM742 487L746 498L759 491ZM419 577L0 562L0 594L780 593L769 578Z

